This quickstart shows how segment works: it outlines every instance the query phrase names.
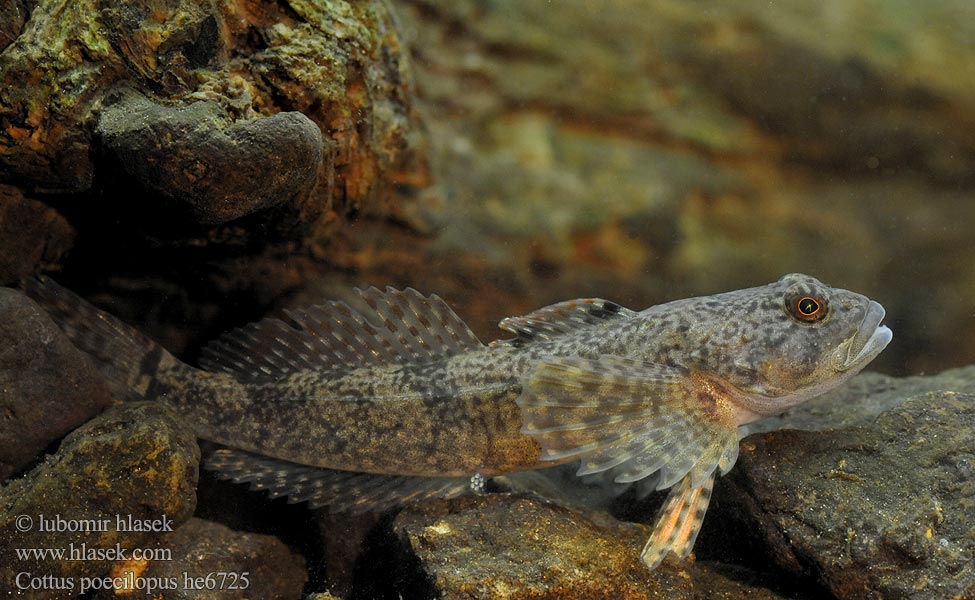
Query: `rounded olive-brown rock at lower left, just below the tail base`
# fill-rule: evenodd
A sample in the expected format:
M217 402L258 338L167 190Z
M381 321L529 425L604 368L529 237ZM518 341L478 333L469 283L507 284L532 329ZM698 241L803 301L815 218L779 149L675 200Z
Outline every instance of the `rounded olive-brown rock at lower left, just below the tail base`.
M0 488L0 595L12 595L16 575L30 572L48 578L31 598L73 597L81 577L109 574L113 555L160 547L161 533L129 523L164 530L189 519L199 460L190 428L154 403L114 406L73 431L57 453ZM82 559L21 557L17 548L73 551ZM58 582L75 587L56 589Z

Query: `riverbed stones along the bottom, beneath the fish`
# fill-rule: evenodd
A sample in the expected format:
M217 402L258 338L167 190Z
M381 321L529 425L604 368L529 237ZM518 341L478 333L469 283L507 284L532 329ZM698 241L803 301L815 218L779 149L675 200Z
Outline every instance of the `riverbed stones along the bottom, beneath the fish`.
M8 306L37 310L19 292L4 294ZM11 592L35 585L31 597L67 598L110 578L158 587L165 597L197 597L188 582L216 585L207 577L221 573L226 589L207 597L299 599L315 590L350 599L975 594L975 367L901 379L863 374L766 423L772 429L744 438L739 464L719 481L696 558L671 557L650 573L639 549L661 498L594 491L564 472L353 517L270 501L210 477L198 483L200 451L190 427L151 402L80 414L58 444L60 429L45 416L68 414L76 400L52 392L35 373L82 373L68 384L82 389L97 389L100 378L85 371L85 355L65 349L59 330L24 331L21 344L30 350L7 352L0 363L0 377L10 382L0 403L17 417L0 422L0 438L37 440L18 457L22 473L0 489L0 581ZM22 390L48 401L17 404ZM52 409L58 401L65 406ZM557 494L546 480L556 482ZM194 510L203 518L190 519ZM127 531L119 515L168 525ZM50 525L55 517L63 530ZM101 530L70 525L102 518L110 522ZM75 561L16 554L82 544L123 554ZM167 553L131 555L146 548ZM62 589L52 588L57 582Z

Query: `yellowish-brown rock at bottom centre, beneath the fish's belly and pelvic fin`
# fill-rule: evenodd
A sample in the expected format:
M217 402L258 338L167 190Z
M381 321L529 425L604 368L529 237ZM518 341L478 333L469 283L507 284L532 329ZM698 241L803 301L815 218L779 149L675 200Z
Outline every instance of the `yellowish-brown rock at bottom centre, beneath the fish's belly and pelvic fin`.
M651 574L640 560L649 528L528 496L413 505L392 530L398 572L373 577L376 589L358 590L362 597L780 598L693 561L668 560Z

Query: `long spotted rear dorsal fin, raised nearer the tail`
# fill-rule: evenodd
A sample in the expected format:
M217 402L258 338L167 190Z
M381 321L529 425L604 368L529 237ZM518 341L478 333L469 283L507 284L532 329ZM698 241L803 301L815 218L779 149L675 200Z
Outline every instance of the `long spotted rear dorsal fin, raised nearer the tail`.
M274 380L305 369L417 364L483 348L436 295L414 289L356 290L366 308L342 302L286 310L225 334L203 350L200 366L242 381Z

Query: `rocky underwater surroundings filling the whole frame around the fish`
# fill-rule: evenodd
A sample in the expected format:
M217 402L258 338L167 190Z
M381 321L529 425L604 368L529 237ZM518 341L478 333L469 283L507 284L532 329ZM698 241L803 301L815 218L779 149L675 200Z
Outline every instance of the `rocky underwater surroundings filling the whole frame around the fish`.
M0 588L975 598L973 24L952 0L0 3ZM653 574L661 498L571 472L356 517L217 481L12 289L52 275L193 364L353 287L440 294L491 340L568 298L792 271L887 308L890 375L754 427L695 560ZM119 515L173 531L88 527ZM117 551L15 553L82 544Z

